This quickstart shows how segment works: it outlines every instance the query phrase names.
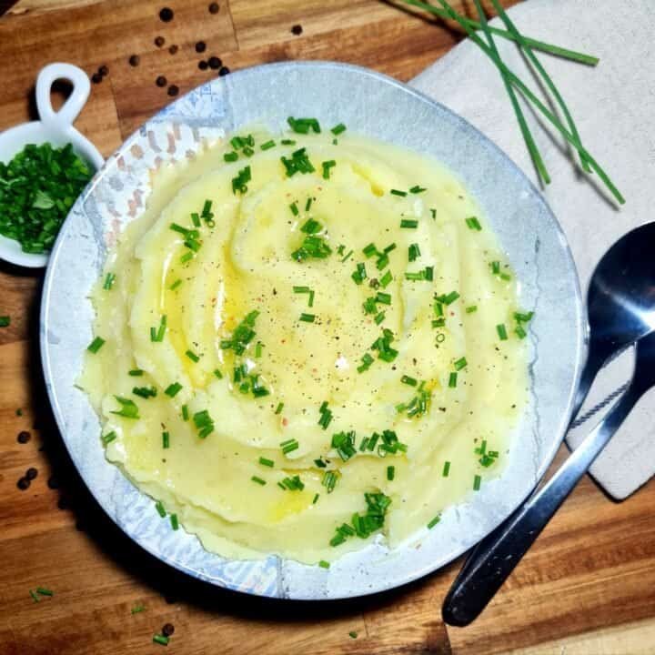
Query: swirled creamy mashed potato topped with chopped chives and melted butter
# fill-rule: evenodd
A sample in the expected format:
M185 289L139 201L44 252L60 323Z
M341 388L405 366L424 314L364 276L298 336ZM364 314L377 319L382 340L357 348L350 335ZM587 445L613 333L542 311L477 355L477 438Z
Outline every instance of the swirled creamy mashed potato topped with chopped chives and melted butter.
M107 459L205 548L393 547L502 469L529 317L442 166L253 134L156 174L93 290L81 386Z

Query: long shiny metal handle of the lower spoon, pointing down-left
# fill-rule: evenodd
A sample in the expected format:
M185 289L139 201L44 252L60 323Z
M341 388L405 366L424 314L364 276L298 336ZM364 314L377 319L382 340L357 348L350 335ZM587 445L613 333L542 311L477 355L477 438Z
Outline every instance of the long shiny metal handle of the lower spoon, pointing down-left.
M455 626L466 626L476 619L509 574L539 537L539 533L578 484L589 466L645 389L630 384L610 412L576 448L551 479L539 489L499 530L483 540L479 557L459 572L444 600L443 618Z

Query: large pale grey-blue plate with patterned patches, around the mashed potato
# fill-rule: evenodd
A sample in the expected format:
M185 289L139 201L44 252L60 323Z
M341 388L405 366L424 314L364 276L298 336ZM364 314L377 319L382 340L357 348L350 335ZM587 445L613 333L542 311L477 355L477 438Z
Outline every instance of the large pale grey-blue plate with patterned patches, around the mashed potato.
M275 555L230 560L159 519L153 500L104 456L100 424L76 388L93 307L89 288L116 235L145 206L151 170L193 157L240 126L280 130L287 116L344 122L433 156L465 183L520 280L521 307L534 310L529 335L529 402L503 474L445 511L438 529L389 550L367 545L330 569ZM53 249L45 277L41 346L45 380L65 445L88 488L144 549L198 579L281 599L339 599L398 587L438 569L496 528L535 487L569 423L584 358L584 320L566 239L539 191L497 146L446 107L397 81L352 65L294 62L220 77L167 106L110 157L81 196Z

